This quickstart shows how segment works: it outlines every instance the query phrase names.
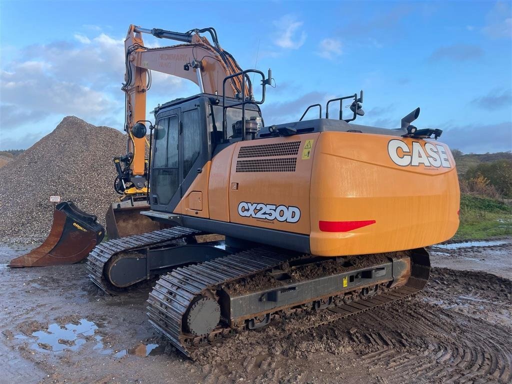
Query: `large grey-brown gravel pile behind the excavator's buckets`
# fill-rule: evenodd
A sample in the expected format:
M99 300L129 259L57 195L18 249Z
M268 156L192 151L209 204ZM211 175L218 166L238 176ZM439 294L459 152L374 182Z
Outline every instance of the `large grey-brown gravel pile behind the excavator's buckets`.
M118 198L112 159L125 153L121 132L65 117L51 134L0 168L2 242L45 239L53 220L52 195L72 200L104 225L106 209Z

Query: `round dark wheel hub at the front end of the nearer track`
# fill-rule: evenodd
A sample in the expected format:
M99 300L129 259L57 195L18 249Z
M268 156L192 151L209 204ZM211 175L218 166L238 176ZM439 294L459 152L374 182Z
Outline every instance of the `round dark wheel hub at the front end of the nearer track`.
M209 297L201 297L188 310L187 327L194 335L207 335L219 324L220 318L219 303Z

